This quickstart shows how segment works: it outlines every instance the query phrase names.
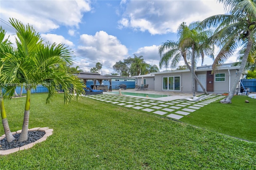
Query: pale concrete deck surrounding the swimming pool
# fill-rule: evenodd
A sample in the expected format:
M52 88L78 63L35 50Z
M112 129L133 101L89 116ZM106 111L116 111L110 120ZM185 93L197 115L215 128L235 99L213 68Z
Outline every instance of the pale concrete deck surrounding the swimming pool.
M118 91L118 90L112 90ZM150 94L158 94L158 95L170 95L168 97L159 97L159 98L150 98L148 99L154 99L154 100L160 100L160 101L172 101L177 99L184 99L186 97L192 97L192 93L178 93L178 92L172 92L172 91L154 91L154 90L137 90L137 89L126 89L122 90L124 92L132 92L132 93L150 93ZM121 92L122 92L121 91ZM108 92L103 92L103 94L110 94ZM203 95L204 93L196 93L196 96ZM132 96L132 97L138 97L138 98L146 98L146 97L139 97L139 96Z

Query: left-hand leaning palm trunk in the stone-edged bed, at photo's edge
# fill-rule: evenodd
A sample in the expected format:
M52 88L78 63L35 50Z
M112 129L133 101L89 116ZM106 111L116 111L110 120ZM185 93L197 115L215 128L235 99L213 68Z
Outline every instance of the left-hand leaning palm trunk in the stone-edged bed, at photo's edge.
M1 109L2 123L4 126L4 134L5 134L6 140L7 142L12 142L12 140L14 140L15 138L12 135L9 124L8 124L6 111L4 108L4 99L2 97L0 98L0 109Z

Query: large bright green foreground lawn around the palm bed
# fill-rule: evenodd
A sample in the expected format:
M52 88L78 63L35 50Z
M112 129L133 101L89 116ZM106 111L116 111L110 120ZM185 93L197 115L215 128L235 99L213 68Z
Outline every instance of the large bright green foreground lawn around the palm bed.
M46 97L32 94L29 128L53 135L0 156L0 169L256 169L255 142L88 98L64 105L59 94L46 105ZM22 128L24 102L5 100L12 131Z

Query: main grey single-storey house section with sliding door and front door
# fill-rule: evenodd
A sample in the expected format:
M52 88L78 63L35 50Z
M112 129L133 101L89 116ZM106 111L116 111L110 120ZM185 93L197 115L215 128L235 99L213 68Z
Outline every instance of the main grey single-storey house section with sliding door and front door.
M196 67L195 73L209 93L228 93L240 68L240 66L231 67L231 65L232 63L222 64L214 75L211 74L212 65ZM162 71L152 75L155 77L155 91L192 93L192 77L188 69ZM198 83L196 83L196 92L203 92Z

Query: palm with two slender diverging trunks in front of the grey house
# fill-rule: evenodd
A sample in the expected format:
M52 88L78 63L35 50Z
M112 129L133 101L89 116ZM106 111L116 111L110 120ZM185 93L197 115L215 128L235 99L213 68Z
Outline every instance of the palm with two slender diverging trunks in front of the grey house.
M169 61L171 61L171 68L174 69L177 67L180 59L184 59L186 66L192 74L193 96L195 96L194 80L198 82L204 93L208 94L194 72L195 57L202 57L202 62L204 60L204 54L207 54L211 58L214 57L214 48L211 47L208 42L208 32L201 32L198 27L196 27L197 25L198 23L193 23L190 24L190 26L186 26L186 23L183 22L178 28L178 42L167 41L162 43L158 49L161 57L159 62L160 68L162 68L163 65L167 68ZM162 55L165 50L168 51ZM190 58L191 66L188 64L187 60Z

